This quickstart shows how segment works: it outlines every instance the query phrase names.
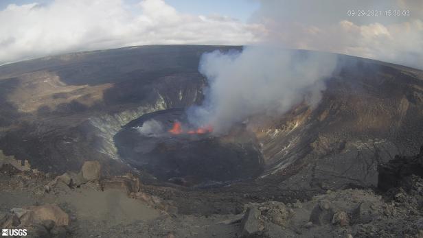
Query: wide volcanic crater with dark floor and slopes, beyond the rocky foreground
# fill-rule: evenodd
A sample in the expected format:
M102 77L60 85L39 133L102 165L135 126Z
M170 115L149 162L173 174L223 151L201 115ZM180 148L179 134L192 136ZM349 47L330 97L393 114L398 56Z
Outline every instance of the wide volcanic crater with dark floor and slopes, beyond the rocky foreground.
M227 136L189 134L198 130L190 126L170 133L176 121L187 125L185 108L203 102L203 53L233 49L242 47L126 47L3 65L0 150L45 172L78 171L85 160L98 160L104 175L136 168L145 184L231 183L219 187L216 200L225 205L218 208L204 191L196 193L207 197L204 210L172 197L184 213L223 213L233 212L234 196L290 201L374 187L378 164L416 154L423 144L422 71L341 55L315 106L297 105L251 130L236 125ZM139 132L152 119L163 135Z

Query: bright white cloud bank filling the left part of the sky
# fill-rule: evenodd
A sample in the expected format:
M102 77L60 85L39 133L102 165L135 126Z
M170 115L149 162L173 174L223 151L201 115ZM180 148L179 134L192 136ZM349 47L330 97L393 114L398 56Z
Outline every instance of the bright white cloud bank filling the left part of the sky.
M54 0L0 12L0 64L50 54L130 45L255 43L255 28L225 16L177 12L163 0Z

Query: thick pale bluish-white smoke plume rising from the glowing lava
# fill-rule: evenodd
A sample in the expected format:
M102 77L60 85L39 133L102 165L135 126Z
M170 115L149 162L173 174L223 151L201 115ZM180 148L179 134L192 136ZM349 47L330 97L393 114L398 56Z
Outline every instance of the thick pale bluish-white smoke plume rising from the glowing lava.
M295 104L319 103L336 56L268 47L203 54L199 71L209 87L201 106L188 109L191 123L225 133L253 115L281 115Z

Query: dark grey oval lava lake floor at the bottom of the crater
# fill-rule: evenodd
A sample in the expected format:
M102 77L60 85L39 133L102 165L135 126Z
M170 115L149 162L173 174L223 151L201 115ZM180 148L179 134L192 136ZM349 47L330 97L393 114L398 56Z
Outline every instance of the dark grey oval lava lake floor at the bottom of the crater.
M175 123L185 128L172 133ZM186 128L185 109L147 113L114 136L124 163L163 182L184 186L227 185L262 174L264 160L255 134L236 125L225 136Z

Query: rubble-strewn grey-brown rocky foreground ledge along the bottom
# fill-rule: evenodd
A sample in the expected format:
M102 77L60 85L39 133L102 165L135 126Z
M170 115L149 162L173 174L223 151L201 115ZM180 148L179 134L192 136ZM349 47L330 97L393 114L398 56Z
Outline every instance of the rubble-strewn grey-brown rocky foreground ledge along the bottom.
M27 237L423 237L423 147L380 165L379 189L212 215L179 213L179 202L153 195L133 174L101 178L96 161L60 176L0 162L0 226L25 228Z

